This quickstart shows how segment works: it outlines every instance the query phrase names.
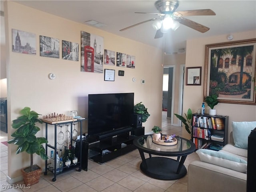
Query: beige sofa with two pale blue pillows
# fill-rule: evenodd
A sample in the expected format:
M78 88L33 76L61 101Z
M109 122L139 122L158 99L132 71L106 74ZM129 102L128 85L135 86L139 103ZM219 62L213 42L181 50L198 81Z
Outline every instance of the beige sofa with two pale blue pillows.
M246 192L248 136L255 127L256 122L232 122L222 150L197 150L200 160L188 166L188 192Z

